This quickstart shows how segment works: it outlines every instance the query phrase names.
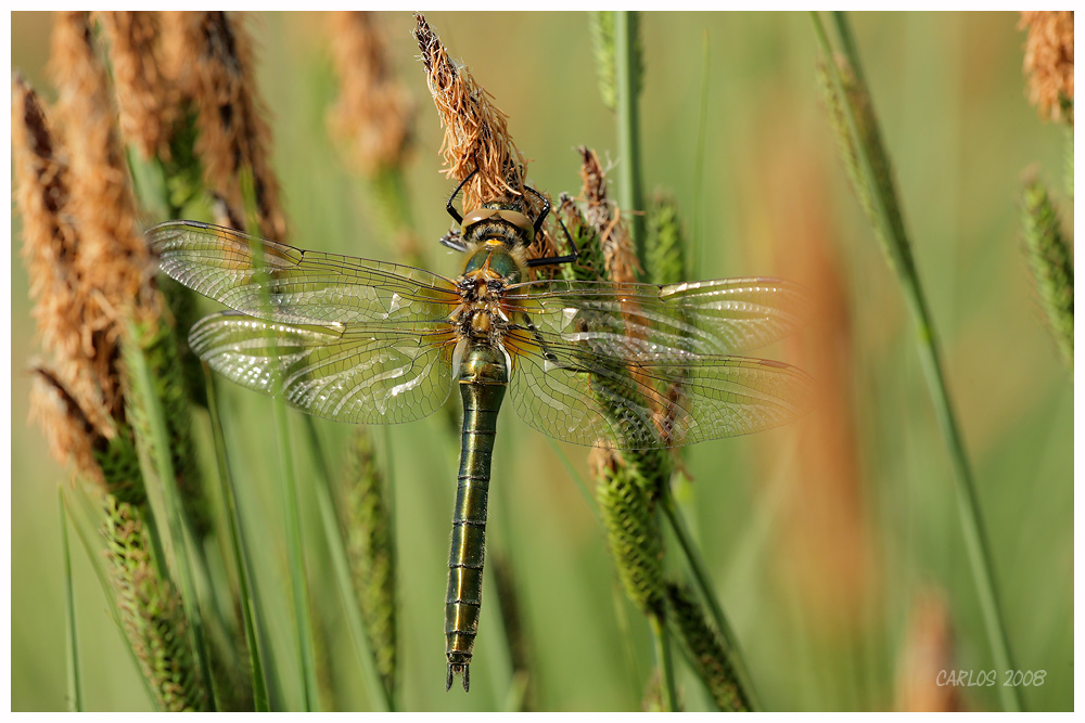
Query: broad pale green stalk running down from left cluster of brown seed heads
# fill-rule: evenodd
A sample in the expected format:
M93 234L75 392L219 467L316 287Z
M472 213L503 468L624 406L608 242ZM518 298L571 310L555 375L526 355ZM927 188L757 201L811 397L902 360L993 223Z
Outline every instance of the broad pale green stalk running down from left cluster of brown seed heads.
M207 682L207 698L210 710L216 710L215 686L210 674L210 656L207 649L207 638L204 631L203 617L200 611L200 601L196 598L195 578L189 559L188 542L184 537L184 507L181 493L177 487L174 473L173 455L169 450L169 432L164 417L162 400L155 393L154 379L142 347L145 330L136 322L128 324L128 345L126 362L131 374L133 391L144 413L151 431L151 443L156 451L154 461L157 466L158 480L166 503L169 537L173 542L174 556L177 560L177 577L181 588L181 601L192 623L192 645L196 661L204 681ZM148 516L150 517L150 515ZM165 558L162 558L165 559Z

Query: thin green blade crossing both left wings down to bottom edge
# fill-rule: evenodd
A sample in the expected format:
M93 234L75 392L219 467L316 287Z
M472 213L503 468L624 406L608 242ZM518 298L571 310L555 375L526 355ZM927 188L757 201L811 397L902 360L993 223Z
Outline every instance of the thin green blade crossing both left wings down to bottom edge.
M241 173L241 195L245 205L245 218L248 228L259 228L259 215L256 207L255 180L250 168ZM253 244L253 268L264 268L264 246ZM265 269L267 273L267 269ZM270 277L270 276L268 276ZM260 283L261 301L273 317L271 304L271 284ZM267 325L268 356L278 357L278 343L275 330ZM279 475L282 483L280 496L283 505L283 519L286 521L286 556L290 564L291 592L294 601L294 638L297 643L297 662L301 672L302 708L314 712L319 705L319 685L317 681L317 663L312 642L311 610L309 609L308 576L305 571L305 551L302 546L302 519L298 513L301 498L297 492L297 479L294 474L294 449L290 438L290 426L286 418L286 402L282 398L282 374L275 364L270 367L271 375L271 414L275 425L276 447L279 453Z

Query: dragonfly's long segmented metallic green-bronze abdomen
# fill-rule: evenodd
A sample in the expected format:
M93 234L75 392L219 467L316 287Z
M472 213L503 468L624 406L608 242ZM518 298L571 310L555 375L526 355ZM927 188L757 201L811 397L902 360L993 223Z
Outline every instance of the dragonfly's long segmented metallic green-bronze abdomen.
M448 593L445 595L445 653L448 659L445 689L451 687L457 673L462 673L467 690L471 680L468 666L482 609L486 505L497 413L509 384L505 353L484 343L471 346L460 363L459 383L463 431L452 511L452 545L448 555Z

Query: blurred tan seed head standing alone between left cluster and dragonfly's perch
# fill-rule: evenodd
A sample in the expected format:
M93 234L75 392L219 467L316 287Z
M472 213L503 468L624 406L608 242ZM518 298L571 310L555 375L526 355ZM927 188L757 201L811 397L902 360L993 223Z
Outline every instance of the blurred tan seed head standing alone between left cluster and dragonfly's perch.
M361 169L375 175L397 168L410 144L414 102L396 78L375 13L328 16L332 57L340 77L339 103L329 121L352 144Z

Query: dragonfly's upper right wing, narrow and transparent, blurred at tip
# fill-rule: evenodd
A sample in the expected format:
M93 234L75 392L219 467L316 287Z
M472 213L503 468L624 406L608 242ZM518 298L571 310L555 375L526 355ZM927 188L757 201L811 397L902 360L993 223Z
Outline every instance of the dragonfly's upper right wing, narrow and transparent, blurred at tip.
M695 354L731 354L771 344L802 321L803 294L778 279L722 279L656 286L592 281L535 281L506 298L540 331L577 333L590 315L599 337L624 336Z

